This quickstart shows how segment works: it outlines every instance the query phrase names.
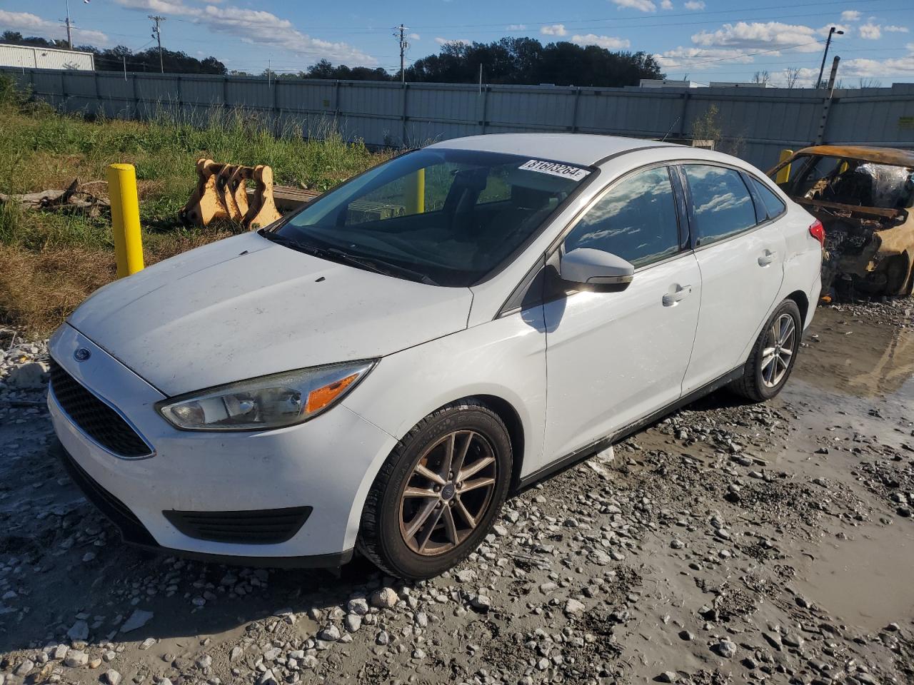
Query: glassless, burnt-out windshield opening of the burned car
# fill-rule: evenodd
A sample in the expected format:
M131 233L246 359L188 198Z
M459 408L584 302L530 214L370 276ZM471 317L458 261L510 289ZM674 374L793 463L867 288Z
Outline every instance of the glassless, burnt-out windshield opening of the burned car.
M911 169L850 157L797 157L781 188L794 198L879 209L904 209L914 200Z

